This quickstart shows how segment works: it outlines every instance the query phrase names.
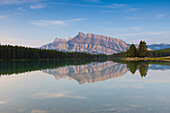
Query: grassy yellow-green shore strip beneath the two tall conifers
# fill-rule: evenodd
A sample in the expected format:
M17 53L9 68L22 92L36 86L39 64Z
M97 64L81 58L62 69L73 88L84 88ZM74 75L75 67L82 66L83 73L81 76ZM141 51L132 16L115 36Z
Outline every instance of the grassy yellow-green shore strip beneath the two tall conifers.
M135 58L122 58L122 60L126 60L126 61L137 61L137 60L162 60L162 61L170 61L170 56L168 56L168 57L158 57L158 58L149 58L149 57L145 57L145 58L139 58L139 57L135 57Z

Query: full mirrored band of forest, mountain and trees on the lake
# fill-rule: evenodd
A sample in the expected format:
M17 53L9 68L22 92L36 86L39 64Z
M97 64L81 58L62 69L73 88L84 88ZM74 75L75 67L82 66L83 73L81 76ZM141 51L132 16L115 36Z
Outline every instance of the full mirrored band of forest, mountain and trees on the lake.
M49 60L0 62L0 76L41 70L57 80L69 78L79 84L94 83L123 76L127 71L146 77L148 70L170 69L166 61Z

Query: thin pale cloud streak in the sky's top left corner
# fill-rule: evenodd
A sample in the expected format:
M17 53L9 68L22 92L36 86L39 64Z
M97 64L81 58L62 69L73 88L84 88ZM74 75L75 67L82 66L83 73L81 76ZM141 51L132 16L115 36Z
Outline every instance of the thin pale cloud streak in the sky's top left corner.
M12 5L12 4L24 4L24 3L34 3L44 0L0 0L0 5Z

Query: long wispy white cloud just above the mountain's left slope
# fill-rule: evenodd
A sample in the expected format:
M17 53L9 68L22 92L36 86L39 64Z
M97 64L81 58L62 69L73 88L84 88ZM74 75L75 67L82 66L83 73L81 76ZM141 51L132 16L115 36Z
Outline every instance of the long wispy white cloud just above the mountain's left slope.
M69 25L70 22L83 21L85 18L74 18L71 20L37 20L29 23L37 26L50 26L50 25Z

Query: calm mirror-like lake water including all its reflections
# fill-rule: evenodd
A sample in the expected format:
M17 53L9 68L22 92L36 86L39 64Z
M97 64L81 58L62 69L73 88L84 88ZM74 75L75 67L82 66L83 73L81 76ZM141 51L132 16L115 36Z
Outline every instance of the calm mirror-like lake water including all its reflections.
M169 62L0 62L0 113L169 113Z

